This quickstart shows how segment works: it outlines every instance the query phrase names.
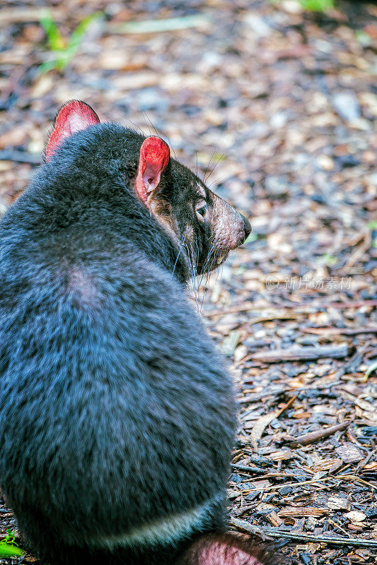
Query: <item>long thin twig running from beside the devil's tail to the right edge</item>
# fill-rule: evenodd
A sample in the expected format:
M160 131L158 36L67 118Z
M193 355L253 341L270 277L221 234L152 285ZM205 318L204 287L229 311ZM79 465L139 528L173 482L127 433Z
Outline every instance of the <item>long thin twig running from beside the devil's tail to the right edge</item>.
M359 547L377 547L377 540L359 540L357 537L337 537L333 535L313 535L306 533L289 532L285 530L277 530L276 528L266 528L255 526L239 520L238 518L231 518L231 525L244 530L245 532L259 535L268 535L269 537L285 537L290 540L300 540L303 542L317 542L333 545L355 545Z

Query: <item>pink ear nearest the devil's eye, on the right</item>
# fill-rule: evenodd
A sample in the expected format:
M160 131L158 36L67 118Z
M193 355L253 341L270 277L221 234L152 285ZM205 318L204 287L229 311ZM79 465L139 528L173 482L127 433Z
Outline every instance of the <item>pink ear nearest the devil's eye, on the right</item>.
M161 173L168 167L170 151L168 145L159 137L147 137L140 148L139 170L136 189L142 201L147 203L161 179Z

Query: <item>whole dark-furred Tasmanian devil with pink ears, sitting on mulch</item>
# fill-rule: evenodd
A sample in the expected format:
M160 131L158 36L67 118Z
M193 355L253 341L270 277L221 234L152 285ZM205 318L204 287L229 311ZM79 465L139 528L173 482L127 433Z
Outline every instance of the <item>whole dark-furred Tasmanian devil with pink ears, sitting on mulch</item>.
M0 223L0 485L42 559L267 562L224 533L236 405L185 296L249 232L160 138L60 109Z

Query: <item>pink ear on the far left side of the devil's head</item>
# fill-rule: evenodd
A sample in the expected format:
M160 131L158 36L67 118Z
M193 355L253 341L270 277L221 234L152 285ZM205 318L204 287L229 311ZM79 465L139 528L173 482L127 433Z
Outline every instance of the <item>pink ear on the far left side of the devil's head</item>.
M59 110L59 114L57 114L54 121L54 130L46 147L47 161L55 153L59 145L62 145L65 138L93 124L99 124L99 121L97 114L85 102L80 100L66 102Z

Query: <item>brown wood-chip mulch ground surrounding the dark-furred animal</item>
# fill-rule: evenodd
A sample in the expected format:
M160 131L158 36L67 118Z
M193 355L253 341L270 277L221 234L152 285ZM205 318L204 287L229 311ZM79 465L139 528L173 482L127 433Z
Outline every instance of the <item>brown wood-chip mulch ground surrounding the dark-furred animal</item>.
M377 6L54 1L63 40L101 14L47 72L44 5L0 11L2 208L75 97L157 131L247 215L243 249L193 285L238 387L231 527L271 537L295 564L374 562ZM0 507L0 535L13 527Z

